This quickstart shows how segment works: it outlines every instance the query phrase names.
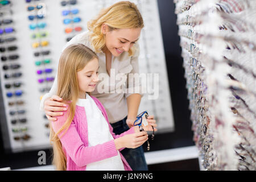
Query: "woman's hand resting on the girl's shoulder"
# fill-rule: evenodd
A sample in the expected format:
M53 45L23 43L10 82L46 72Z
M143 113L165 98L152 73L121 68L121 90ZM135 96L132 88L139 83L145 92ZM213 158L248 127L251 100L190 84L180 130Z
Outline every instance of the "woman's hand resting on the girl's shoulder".
M63 101L63 99L59 96L52 96L51 98L47 98L46 101L44 101L44 111L46 113L46 117L50 121L57 121L55 116L63 115L62 111L67 111L67 105L61 101Z

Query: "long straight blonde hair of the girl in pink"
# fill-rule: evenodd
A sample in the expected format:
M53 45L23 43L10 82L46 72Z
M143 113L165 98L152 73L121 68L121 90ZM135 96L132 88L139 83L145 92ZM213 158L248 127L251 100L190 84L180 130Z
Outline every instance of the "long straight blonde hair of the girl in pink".
M60 56L59 68L57 73L57 96L63 98L67 102L68 118L64 125L57 133L50 130L50 141L52 144L52 163L56 166L56 170L67 169L67 159L63 152L63 148L58 135L61 131L68 130L75 115L76 102L79 98L79 83L77 81L77 72L81 71L85 65L97 55L83 44L72 44L64 49ZM60 136L62 137L62 135Z

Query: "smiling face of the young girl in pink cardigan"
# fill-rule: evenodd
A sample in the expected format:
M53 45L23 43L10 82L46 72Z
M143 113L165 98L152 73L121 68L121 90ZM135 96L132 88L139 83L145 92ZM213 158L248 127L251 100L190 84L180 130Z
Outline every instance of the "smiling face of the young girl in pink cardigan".
M85 92L93 92L98 82L98 59L90 60L85 67L77 72L79 82L80 98L85 98Z

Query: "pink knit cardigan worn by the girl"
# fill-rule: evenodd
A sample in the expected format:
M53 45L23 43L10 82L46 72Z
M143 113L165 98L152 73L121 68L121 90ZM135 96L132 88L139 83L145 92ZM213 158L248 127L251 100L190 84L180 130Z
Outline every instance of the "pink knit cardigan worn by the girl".
M97 98L92 98L102 111L104 117L106 118L106 121L109 125L110 133L112 134L114 139L122 137L123 135L134 133L134 129L132 127L131 129L125 131L120 135L115 135L113 133L113 128L109 123L108 115L106 114L104 106L101 104L100 101L97 100ZM59 131L59 129L63 126L67 118L68 111L64 112L64 115L57 117L57 121L51 122L52 128L55 133ZM58 136L61 137L60 141L63 146L64 154L67 157L67 171L85 171L87 164L111 158L118 154L115 148L114 139L110 140L109 142L88 147L88 126L84 107L76 105L75 117L73 118L73 121L69 126L67 132L63 135L64 132L65 130L62 131ZM122 149L123 148L119 149L119 151L121 151ZM131 167L126 162L121 152L120 156L125 170L131 171Z

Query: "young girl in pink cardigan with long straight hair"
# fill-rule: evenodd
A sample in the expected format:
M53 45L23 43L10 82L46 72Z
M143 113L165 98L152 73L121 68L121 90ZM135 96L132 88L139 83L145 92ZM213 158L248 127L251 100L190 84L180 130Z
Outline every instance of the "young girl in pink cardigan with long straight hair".
M57 73L57 95L67 111L51 122L53 164L57 170L131 170L119 152L148 139L138 127L115 135L101 102L89 96L98 82L98 57L83 44L64 49Z

